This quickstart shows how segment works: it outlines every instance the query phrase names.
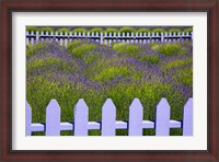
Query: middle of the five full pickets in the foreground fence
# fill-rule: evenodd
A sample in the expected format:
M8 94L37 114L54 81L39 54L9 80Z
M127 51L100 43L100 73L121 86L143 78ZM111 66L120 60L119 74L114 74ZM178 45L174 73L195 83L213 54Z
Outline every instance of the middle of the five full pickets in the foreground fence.
M115 136L116 107L111 99L107 99L102 107L102 136Z

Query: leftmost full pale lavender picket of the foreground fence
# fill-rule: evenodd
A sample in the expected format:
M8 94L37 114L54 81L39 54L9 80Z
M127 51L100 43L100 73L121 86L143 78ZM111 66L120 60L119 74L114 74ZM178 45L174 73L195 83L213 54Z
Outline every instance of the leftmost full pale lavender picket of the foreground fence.
M60 106L51 100L46 107L46 136L60 136Z

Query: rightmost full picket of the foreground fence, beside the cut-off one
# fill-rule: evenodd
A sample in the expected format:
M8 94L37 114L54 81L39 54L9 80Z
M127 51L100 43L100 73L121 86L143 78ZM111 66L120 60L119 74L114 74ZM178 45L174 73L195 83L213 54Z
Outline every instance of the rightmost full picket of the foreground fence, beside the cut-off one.
M155 136L169 136L170 134L170 105L166 99L162 99L157 106Z

